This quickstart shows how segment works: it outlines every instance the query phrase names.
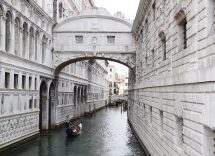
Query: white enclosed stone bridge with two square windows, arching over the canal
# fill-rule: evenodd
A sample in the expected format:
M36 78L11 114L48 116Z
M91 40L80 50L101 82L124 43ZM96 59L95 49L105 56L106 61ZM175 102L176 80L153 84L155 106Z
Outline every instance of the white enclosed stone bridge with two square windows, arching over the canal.
M67 65L83 60L110 60L135 69L132 23L91 9L57 24L54 35L54 76Z

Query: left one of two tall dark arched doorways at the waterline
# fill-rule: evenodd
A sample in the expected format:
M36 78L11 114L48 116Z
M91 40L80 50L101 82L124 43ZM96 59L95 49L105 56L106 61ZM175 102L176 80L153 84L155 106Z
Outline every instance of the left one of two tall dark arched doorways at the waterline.
M40 84L40 115L39 128L40 132L48 129L47 127L47 85L45 81Z

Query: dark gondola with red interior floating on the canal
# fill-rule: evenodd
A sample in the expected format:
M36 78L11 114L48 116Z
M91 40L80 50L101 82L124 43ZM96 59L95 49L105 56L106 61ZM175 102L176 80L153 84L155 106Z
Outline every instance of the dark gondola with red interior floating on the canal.
M66 134L68 136L79 135L81 133L82 123L70 123L66 126Z

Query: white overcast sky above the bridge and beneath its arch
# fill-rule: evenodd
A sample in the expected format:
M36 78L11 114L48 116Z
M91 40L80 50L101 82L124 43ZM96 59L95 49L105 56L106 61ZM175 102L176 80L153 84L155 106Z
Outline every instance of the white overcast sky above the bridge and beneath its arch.
M94 0L97 7L106 8L112 15L117 11L125 14L125 18L134 20L140 0ZM124 65L110 62L117 69L117 72L122 75L127 75L128 68Z

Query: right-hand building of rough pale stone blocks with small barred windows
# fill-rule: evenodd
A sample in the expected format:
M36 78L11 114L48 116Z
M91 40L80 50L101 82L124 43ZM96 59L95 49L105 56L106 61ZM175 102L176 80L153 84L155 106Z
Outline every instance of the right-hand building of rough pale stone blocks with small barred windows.
M214 0L140 0L128 112L153 156L214 155L214 8Z

